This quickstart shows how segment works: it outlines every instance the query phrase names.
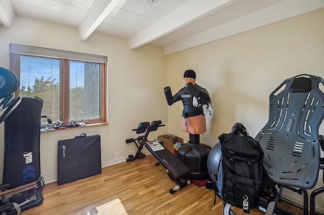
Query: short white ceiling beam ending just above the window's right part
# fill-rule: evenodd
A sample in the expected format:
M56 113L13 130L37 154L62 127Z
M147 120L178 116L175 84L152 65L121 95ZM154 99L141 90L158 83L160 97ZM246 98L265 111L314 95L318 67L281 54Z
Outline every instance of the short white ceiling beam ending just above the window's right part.
M1 1L1 0L0 0ZM96 30L109 13L124 0L95 0L85 18L77 27L80 40L85 41Z

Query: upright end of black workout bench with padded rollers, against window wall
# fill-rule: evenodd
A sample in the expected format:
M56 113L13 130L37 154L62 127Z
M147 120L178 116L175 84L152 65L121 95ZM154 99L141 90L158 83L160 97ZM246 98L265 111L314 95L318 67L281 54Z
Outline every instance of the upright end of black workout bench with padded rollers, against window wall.
M142 134L142 133L145 134L144 136L139 136L136 139L131 138L126 140L126 143L134 142L134 144L137 147L135 156L133 154L128 155L128 158L126 159L127 162L132 162L135 159L145 157L145 154L143 154L142 149L145 142L147 141L147 136L151 131L156 131L158 127L165 126L165 125L161 125L161 123L162 122L160 120L152 121L151 124L149 122L142 122L138 124L136 129L132 130L132 131L136 131L136 134Z

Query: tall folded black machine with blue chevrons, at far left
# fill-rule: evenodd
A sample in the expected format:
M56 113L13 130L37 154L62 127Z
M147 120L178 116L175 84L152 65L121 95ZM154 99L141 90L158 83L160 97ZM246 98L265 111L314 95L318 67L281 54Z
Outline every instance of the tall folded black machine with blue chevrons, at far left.
M42 108L42 99L22 97L17 108L5 119L0 212L17 214L43 202L44 178L39 153Z

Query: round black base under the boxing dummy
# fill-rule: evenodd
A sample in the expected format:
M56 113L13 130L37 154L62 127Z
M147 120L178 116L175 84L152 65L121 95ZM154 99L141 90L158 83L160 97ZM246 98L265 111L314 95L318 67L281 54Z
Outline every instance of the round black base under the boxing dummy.
M211 147L203 143L187 143L178 149L178 158L190 169L187 176L189 179L205 180L208 178L207 159L210 150Z

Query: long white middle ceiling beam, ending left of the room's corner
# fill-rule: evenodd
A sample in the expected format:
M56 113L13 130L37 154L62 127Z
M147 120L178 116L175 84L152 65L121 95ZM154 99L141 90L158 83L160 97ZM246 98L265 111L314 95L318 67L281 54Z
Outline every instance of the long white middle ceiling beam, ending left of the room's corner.
M135 49L149 43L236 1L237 0L204 0L204 2L201 2L201 0L191 0L181 8L157 20L152 25L129 38L129 47Z

